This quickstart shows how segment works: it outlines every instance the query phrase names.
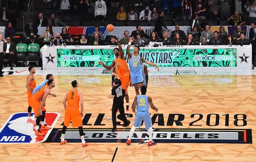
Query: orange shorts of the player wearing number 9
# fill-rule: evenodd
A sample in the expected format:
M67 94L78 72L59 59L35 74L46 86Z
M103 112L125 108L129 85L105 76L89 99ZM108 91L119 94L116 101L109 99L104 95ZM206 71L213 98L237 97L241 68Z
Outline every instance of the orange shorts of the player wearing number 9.
M83 126L79 108L67 106L65 111L64 126L68 127L71 120L73 128Z

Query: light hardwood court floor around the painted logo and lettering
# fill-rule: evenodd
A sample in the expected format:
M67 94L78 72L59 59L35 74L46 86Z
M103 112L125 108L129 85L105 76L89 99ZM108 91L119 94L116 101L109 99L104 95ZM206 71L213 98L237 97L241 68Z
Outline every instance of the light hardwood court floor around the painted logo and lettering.
M35 76L37 84L45 76ZM17 112L27 111L26 76L4 76L1 80L0 93L0 125L8 117ZM56 87L51 90L57 97L48 96L46 109L48 112L61 114L55 128L62 128L64 108L62 100L71 81L77 80L79 89L84 93L84 114L91 113L90 122L94 123L100 113L105 113L103 122L106 128L112 128L112 100L107 98L111 90L111 76L54 76ZM128 88L130 105L135 95L134 88ZM164 126L154 124L154 128L194 128L194 129L252 129L253 144L227 143L158 143L155 146L131 143L90 143L82 148L81 143L39 144L0 144L0 159L3 161L85 161L103 162L255 162L256 145L256 76L149 76L148 92L153 102L159 108L157 113L164 114ZM132 112L130 112L132 113ZM152 109L150 113L154 114ZM132 113L134 114L134 113ZM168 126L169 114L184 114L182 126ZM190 126L198 117L191 114L202 114L203 118ZM218 114L219 123L207 125L207 115ZM225 126L226 114L229 114L229 124ZM235 124L235 114L246 114L246 124L238 120ZM241 116L239 117L241 118ZM134 118L131 118L132 127ZM242 126L242 125L245 126ZM237 125L237 126L235 126ZM102 128L102 126L84 126L84 128ZM120 127L121 128L121 127ZM144 126L142 126L144 128Z

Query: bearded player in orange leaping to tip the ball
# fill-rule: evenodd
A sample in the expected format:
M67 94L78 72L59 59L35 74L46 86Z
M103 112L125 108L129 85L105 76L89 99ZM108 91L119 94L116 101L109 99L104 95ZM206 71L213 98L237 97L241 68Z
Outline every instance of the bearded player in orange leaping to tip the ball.
M122 82L122 90L123 90L123 95L127 95L127 88L130 84L130 71L128 68L128 64L126 62L126 58L124 56L124 51L121 47L121 44L118 42L118 40L111 38L111 42L116 42L118 44L118 48L114 49L114 54L116 58L113 60L113 62L110 64L110 66L107 66L103 64L102 61L99 62L100 65L103 65L104 68L110 70L116 65L116 74L118 74L118 77L120 78ZM124 97L123 97L124 98ZM126 105L129 100L126 100ZM129 102L128 102L129 103ZM126 110L128 110L129 105L126 106Z

